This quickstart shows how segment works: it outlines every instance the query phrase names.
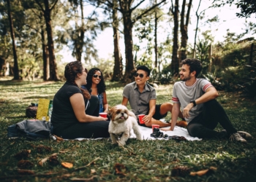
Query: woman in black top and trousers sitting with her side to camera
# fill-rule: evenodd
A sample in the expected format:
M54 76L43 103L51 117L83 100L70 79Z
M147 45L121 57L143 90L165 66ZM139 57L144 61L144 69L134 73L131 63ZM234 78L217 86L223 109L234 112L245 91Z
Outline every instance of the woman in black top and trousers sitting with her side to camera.
M65 67L64 76L67 82L53 98L53 134L67 139L108 138L109 122L99 116L99 99L80 88L86 84L87 69L73 61Z

